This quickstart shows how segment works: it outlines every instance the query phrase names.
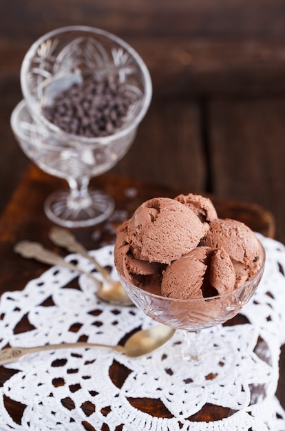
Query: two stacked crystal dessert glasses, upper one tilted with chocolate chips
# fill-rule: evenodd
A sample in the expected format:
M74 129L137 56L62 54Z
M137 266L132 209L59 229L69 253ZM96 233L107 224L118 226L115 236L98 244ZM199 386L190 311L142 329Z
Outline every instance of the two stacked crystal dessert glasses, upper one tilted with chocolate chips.
M145 63L114 34L84 26L59 28L28 50L21 87L24 100L11 116L14 135L36 165L70 186L47 198L45 213L65 227L102 222L114 200L89 189L89 180L116 165L134 141L152 94ZM70 102L74 89L81 102ZM60 113L51 116L55 107ZM94 117L96 127L90 124Z

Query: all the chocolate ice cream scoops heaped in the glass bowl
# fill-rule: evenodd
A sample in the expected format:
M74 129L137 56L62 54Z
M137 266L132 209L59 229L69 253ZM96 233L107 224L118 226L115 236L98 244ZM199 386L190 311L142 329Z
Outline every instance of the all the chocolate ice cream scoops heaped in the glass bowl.
M131 284L174 298L233 291L257 273L260 243L241 222L220 220L208 198L144 202L117 231L116 269Z

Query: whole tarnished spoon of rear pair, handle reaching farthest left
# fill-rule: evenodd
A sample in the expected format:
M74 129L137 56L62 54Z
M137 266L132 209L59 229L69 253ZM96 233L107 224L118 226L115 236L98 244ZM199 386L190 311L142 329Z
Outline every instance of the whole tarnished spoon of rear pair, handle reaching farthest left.
M117 285L115 285L116 282L114 282L114 285L112 285L112 284L107 284L107 282L105 281L103 282L99 281L96 277L92 275L92 273L89 273L88 271L84 271L83 269L72 264L71 262L67 262L60 255L54 253L51 250L45 249L41 244L39 244L39 242L32 242L32 241L25 241L25 240L17 242L17 244L14 246L14 251L16 253L19 253L23 257L27 257L28 259L39 260L39 262L43 262L45 264L50 264L50 265L64 266L65 268L72 269L72 271L86 274L88 275L88 277L92 278L94 282L96 282L98 286L98 291L96 292L96 295L100 299L107 301L106 298L109 298L107 302L116 304L116 305L121 305L121 306L130 305L129 297L127 298L123 297L120 291L120 288ZM102 295L102 292L103 292L103 295ZM108 293L109 293L109 297L108 297ZM133 305L132 302L131 304Z

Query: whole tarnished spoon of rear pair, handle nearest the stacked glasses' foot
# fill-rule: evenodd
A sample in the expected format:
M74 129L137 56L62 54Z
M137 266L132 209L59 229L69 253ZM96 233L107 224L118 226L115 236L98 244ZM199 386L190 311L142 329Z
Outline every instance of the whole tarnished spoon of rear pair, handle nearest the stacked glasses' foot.
M70 231L61 227L52 227L49 236L50 240L52 240L52 242L57 246L65 247L65 249L72 253L81 254L94 264L96 270L101 273L103 277L101 288L96 293L100 299L115 305L134 305L133 302L131 302L131 299L129 299L122 284L117 280L112 279L108 271L106 271L94 257L89 255L83 244L78 242Z

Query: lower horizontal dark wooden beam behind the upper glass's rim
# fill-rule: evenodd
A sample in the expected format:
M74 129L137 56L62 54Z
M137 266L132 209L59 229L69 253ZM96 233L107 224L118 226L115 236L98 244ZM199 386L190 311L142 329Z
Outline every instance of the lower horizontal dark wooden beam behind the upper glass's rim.
M0 21L1 23L1 21ZM6 94L19 88L21 61L34 39L1 39L0 81ZM202 96L248 92L285 93L283 39L213 39L206 36L125 36L145 60L154 83L154 96ZM234 53L234 55L233 55ZM12 85L14 80L14 85ZM19 92L19 98L21 93Z

